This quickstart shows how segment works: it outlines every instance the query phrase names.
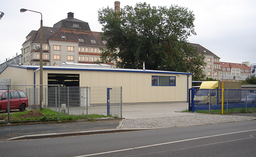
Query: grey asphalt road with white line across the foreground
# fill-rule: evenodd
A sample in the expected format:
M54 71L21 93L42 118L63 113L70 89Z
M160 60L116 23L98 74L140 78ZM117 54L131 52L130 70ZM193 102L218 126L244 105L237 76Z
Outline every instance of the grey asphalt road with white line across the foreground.
M0 142L1 156L255 156L256 121Z

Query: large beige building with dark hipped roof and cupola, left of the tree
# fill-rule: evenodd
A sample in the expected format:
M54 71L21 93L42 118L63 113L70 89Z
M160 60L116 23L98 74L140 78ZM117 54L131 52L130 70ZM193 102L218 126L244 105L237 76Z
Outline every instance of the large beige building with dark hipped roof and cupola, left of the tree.
M22 65L39 65L40 29L32 30L22 44ZM74 18L69 12L53 27L43 27L43 65L58 66L61 62L94 63L100 61L101 50L106 41L101 40L101 33L91 31L88 22ZM114 62L106 63L114 67Z

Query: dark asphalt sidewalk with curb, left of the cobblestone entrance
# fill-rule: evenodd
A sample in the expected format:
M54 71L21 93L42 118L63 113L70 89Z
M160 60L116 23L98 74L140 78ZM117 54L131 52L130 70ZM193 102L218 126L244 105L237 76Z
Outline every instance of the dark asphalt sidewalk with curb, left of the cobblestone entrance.
M115 129L121 119L106 119L95 121L75 121L66 123L32 123L23 125L0 126L0 140L6 140L23 135L66 133L74 131L90 131Z

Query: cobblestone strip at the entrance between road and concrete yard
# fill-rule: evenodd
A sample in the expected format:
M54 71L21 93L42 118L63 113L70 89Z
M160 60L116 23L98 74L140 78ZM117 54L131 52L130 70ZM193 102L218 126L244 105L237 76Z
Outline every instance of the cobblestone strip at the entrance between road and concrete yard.
M198 124L212 124L222 122L235 122L244 120L254 120L251 116L216 115L216 114L195 114L172 117L156 117L141 119L125 119L120 125L121 129L135 128L163 128L181 127Z

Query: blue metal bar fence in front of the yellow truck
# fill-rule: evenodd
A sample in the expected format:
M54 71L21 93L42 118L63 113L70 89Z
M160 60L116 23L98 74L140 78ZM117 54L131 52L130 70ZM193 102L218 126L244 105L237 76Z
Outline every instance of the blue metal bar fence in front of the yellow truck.
M215 110L222 107L221 89L189 89L189 111ZM256 90L225 89L224 109L256 107Z

